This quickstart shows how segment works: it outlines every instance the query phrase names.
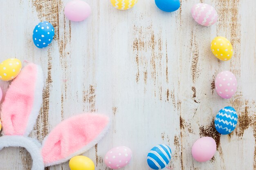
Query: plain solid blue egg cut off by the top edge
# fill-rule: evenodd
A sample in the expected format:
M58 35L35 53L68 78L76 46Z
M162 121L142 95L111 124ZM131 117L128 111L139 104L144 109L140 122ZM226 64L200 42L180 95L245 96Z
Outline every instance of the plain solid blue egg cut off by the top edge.
M155 0L155 4L165 12L173 12L180 8L180 0Z

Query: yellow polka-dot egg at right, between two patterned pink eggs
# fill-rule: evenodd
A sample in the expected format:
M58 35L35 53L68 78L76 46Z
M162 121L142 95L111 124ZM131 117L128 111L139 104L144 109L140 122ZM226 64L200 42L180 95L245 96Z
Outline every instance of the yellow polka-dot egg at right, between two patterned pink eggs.
M230 60L233 55L233 48L230 41L225 37L215 37L211 41L211 52L220 60Z

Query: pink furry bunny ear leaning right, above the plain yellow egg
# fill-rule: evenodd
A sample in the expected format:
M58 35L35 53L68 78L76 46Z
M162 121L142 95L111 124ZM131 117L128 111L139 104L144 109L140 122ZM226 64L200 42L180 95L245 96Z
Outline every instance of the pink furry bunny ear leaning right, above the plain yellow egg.
M43 141L45 166L63 163L82 154L105 135L109 119L94 113L84 113L58 124Z

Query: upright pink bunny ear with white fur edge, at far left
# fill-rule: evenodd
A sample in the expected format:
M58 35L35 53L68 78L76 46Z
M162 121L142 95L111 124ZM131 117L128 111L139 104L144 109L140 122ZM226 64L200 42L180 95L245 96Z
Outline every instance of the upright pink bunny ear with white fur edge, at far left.
M12 81L2 103L5 135L29 135L40 111L43 84L42 69L32 63Z

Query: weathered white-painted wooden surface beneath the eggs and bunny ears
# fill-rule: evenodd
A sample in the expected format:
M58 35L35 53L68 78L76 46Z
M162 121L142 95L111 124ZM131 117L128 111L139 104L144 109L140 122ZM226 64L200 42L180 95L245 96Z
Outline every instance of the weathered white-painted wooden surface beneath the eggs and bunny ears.
M157 9L153 0L139 0L119 11L109 0L87 0L92 15L70 22L69 0L1 0L0 59L11 57L40 64L45 73L43 107L31 137L42 141L61 120L83 111L112 118L106 137L84 153L97 170L107 170L108 149L125 145L133 158L124 170L148 170L146 155L156 144L171 146L174 170L256 170L256 1L200 0L216 7L218 22L198 25L190 10L199 0L182 0L173 13ZM38 49L34 26L51 22L52 44ZM231 40L234 57L221 62L210 51L215 36ZM238 79L236 95L225 100L214 90L218 72L230 70ZM0 82L4 92L8 82ZM239 115L231 135L219 135L213 118L233 106ZM213 137L218 151L198 163L191 146ZM31 157L22 148L0 151L1 170L27 170ZM68 163L47 168L68 170Z

